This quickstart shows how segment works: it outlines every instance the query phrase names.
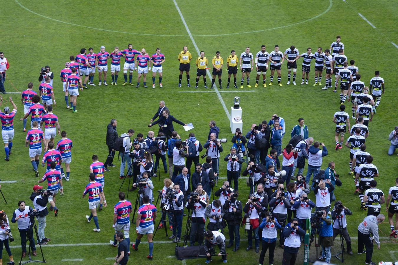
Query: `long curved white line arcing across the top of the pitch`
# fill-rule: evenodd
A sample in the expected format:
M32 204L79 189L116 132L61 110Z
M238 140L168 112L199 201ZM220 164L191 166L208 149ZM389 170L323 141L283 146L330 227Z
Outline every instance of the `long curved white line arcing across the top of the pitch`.
M45 16L45 15L41 15L41 14L36 13L36 12L34 12L33 10L30 10L29 8L23 6L18 0L15 0L15 2L16 2L21 8L23 8L23 9L25 9L26 11L31 12L31 13L33 13L33 14L35 14L35 15L38 15L38 16L40 16L40 17L44 17L44 18L46 18L46 19L50 19L50 20L53 20L53 21L57 21L57 22L59 22L59 23L64 23L64 24L72 25L72 26L85 27L85 28L87 28L87 29L95 29L95 30L99 30L99 31L107 31L107 32L114 32L114 33L124 33L124 34L130 34L130 35L133 35L133 34L134 34L134 35L157 36L157 37L189 37L189 36L187 36L187 35L164 35L164 34L133 33L133 32L115 31L115 30L110 30L110 29L99 29L99 28L95 28L95 27L88 27L88 26L84 26L84 25L78 25L78 24L75 24L75 23L70 23L70 22L62 21L62 20L55 19L55 18L52 18L52 17L47 17L47 16ZM193 37L221 37L221 36L228 36L228 35L258 33L258 32L263 32L263 31L270 31L270 30L274 30L274 29L283 29L283 28L285 28L285 27L295 26L295 25L302 24L302 23L311 21L311 20L313 20L313 19L316 19L316 18L318 18L318 17L320 17L320 16L326 14L327 12L329 12L329 10L332 8L332 5L333 5L332 0L329 0L329 6L328 6L328 8L327 8L324 12L322 12L321 14L318 14L318 15L316 15L316 16L314 16L314 17L311 17L311 18L309 18L309 19L306 19L306 20L304 20L304 21L296 22L296 23L289 24L289 25L274 27L274 28L271 28L271 29L260 29L260 30L256 30L256 31L246 31L246 32L238 32L238 33L210 34L210 35L192 35L192 36L193 36Z

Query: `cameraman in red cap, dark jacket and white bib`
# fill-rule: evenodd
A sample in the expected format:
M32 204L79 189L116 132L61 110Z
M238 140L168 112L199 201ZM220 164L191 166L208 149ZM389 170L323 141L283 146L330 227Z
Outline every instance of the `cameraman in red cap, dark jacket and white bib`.
M46 216L49 214L47 210L47 203L49 201L49 193L47 190L43 190L43 186L35 185L33 186L33 192L30 195L29 199L33 201L33 207L37 210L36 218L38 225L37 233L39 234L39 238L37 241L39 245L45 245L51 239L46 238L44 236L44 228L46 227Z

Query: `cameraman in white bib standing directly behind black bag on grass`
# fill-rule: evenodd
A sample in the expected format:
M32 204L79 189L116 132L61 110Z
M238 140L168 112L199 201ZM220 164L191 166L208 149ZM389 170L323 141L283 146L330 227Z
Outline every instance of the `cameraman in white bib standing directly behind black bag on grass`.
M195 245L195 238L198 237L199 246L203 244L203 230L205 230L205 211L207 202L199 197L198 193L189 194L188 202L185 207L192 210L191 215L191 235L189 246Z

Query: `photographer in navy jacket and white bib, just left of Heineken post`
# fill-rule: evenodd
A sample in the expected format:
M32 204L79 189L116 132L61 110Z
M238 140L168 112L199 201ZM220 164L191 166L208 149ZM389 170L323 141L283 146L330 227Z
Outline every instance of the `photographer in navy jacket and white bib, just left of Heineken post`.
M263 265L265 252L267 252L267 249L269 250L268 263L273 264L274 250L277 240L277 229L281 229L281 225L277 219L272 217L271 212L267 212L265 216L266 218L263 218L263 221L260 224L260 229L262 229L261 253L259 259L260 265Z

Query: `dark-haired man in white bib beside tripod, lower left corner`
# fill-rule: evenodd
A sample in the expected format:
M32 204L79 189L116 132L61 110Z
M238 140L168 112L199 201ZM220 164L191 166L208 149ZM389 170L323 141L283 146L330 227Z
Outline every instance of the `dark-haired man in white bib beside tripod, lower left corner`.
M11 222L18 222L18 230L21 236L22 257L26 255L26 236L28 235L29 246L32 249L33 256L37 255L35 240L33 239L33 229L29 229L29 212L35 212L36 209L25 207L25 201L18 201L18 208L12 214Z

